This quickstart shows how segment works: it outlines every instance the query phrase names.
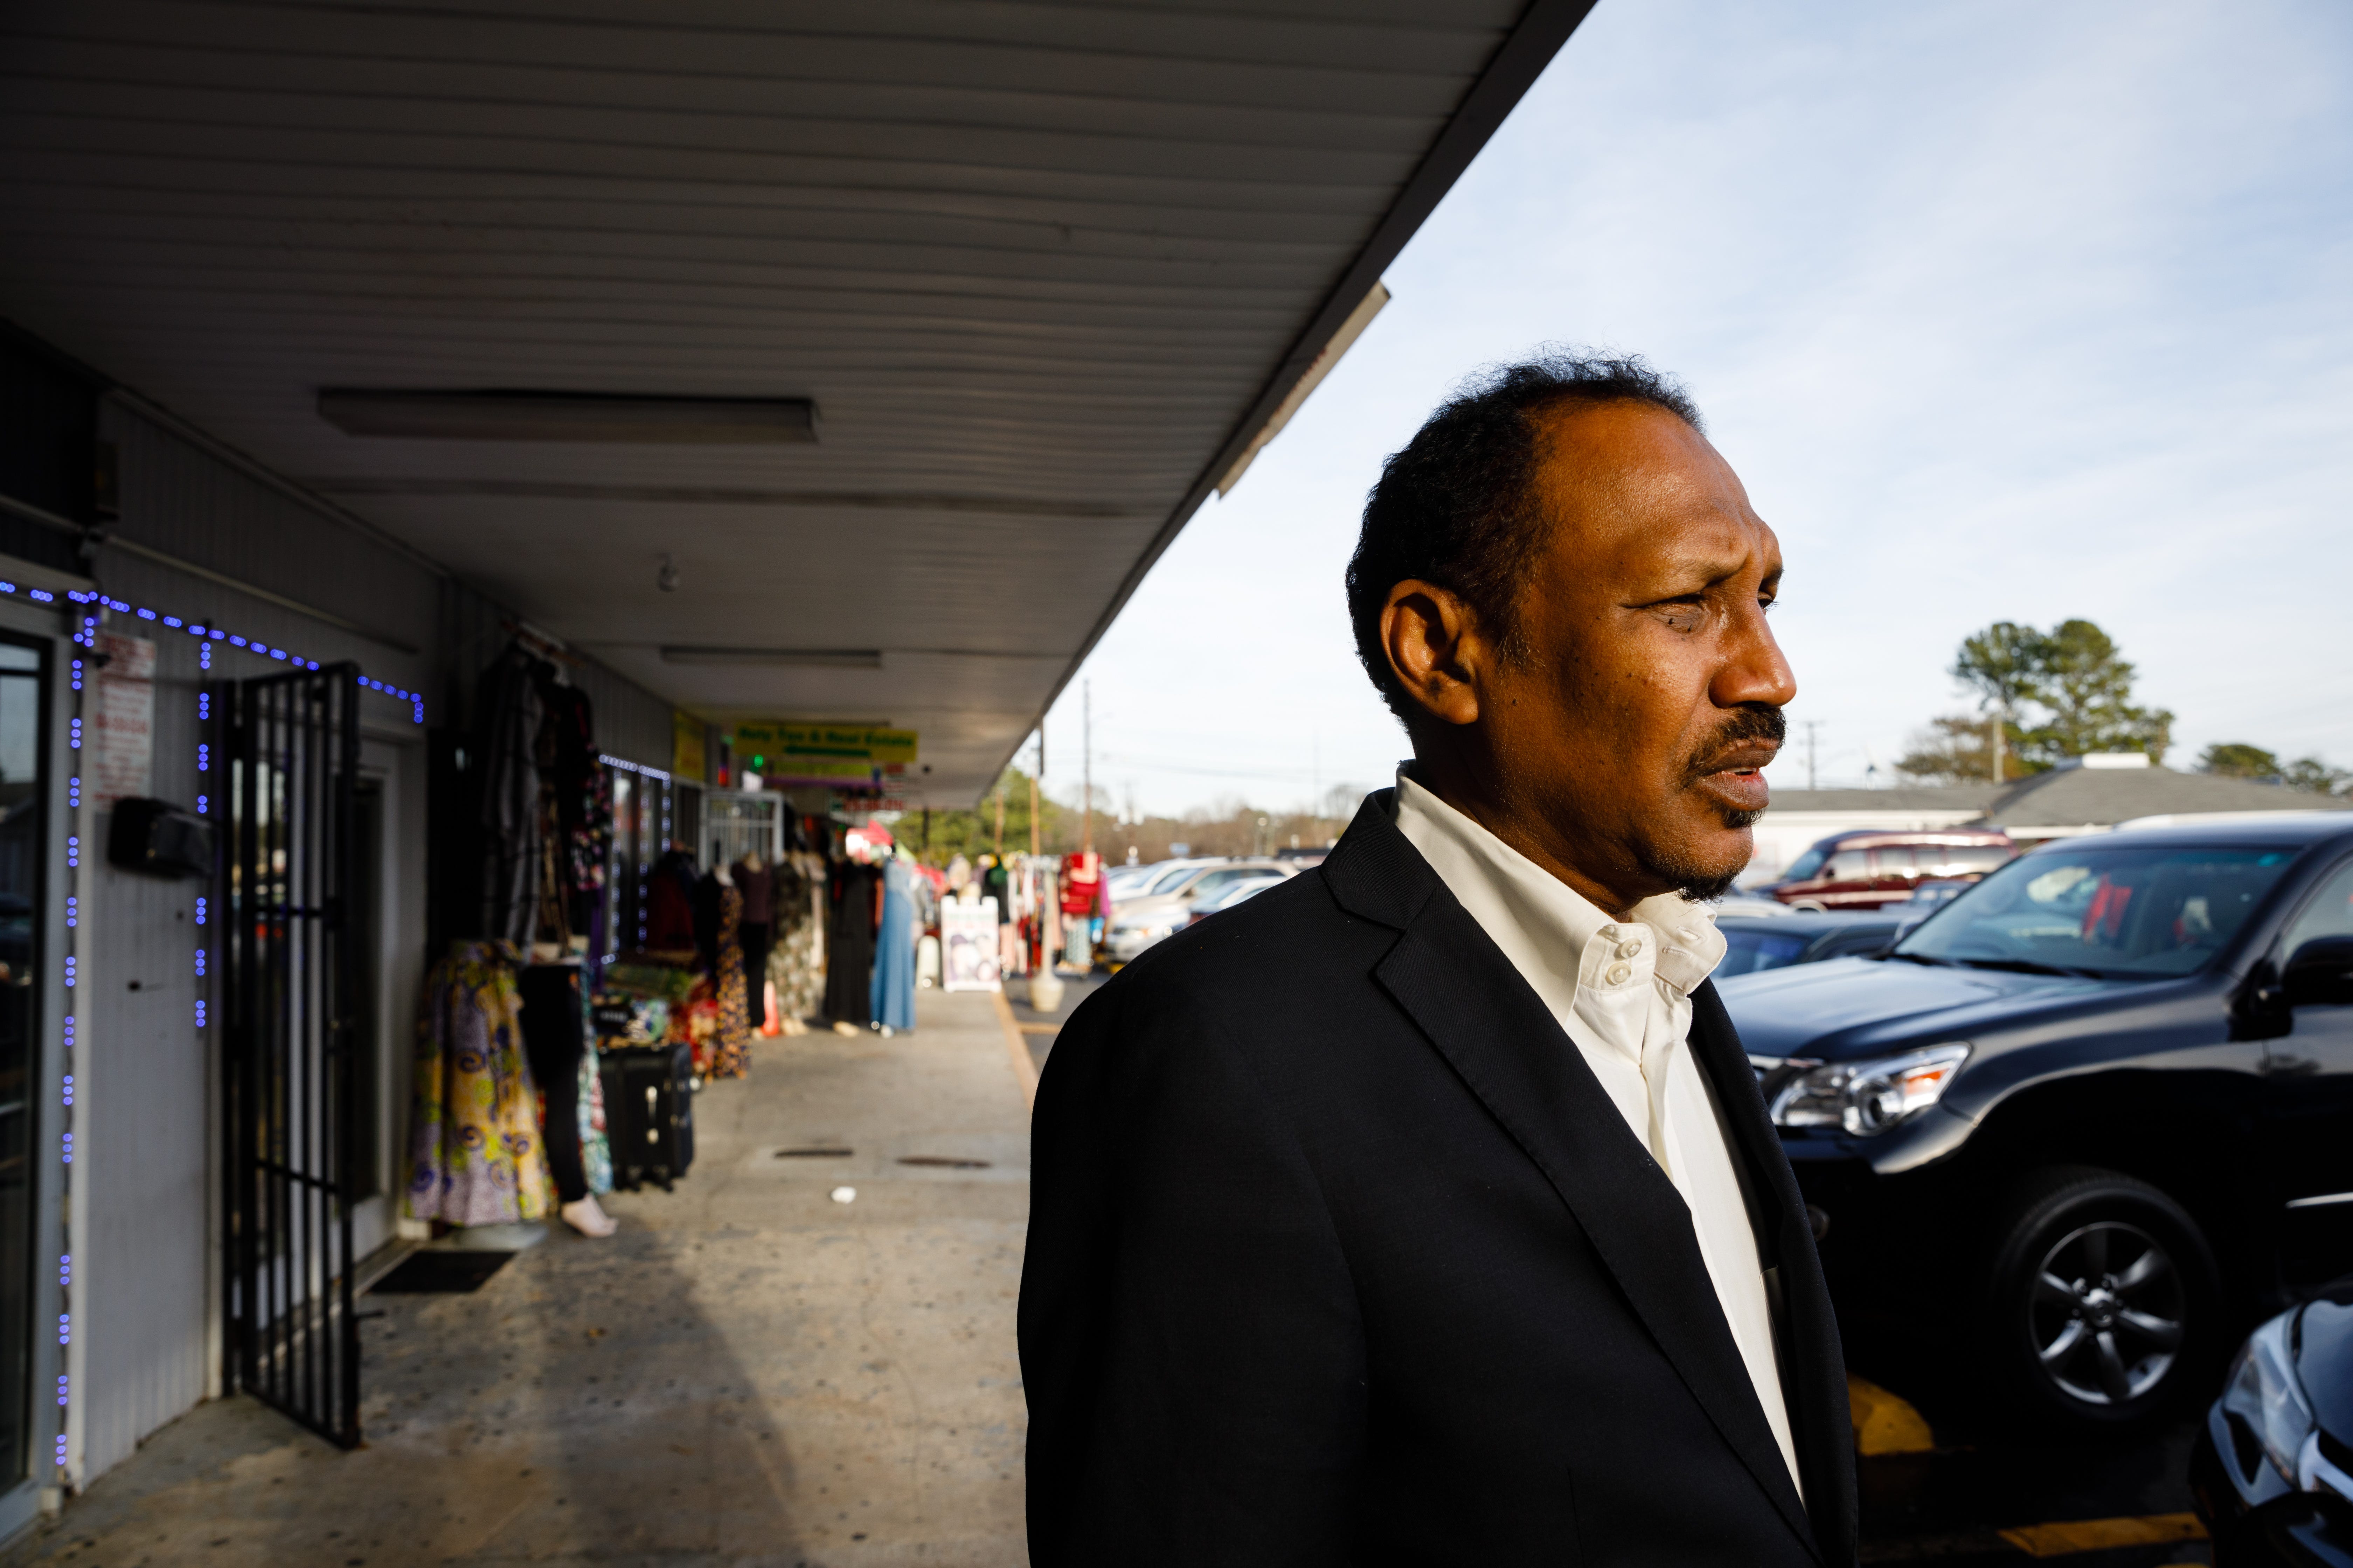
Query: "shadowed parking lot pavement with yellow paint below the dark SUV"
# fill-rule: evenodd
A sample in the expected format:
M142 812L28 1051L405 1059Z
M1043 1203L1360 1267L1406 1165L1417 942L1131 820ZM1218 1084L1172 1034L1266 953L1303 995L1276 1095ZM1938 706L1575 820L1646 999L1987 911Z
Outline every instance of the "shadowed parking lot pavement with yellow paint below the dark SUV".
M2198 1415L2125 1441L2014 1436L1953 1406L1857 1399L1866 1563L2066 1568L2212 1563L2191 1502ZM1906 1425L1904 1415L1918 1425ZM1875 1439L1875 1441L1873 1441Z

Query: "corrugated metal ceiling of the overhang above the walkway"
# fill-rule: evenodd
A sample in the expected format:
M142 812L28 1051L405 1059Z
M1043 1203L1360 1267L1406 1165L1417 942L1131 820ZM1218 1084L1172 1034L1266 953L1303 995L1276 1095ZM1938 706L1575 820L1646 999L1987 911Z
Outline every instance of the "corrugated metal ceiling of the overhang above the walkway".
M680 705L922 731L953 804L1588 2L19 0L0 308ZM369 440L322 388L821 440Z

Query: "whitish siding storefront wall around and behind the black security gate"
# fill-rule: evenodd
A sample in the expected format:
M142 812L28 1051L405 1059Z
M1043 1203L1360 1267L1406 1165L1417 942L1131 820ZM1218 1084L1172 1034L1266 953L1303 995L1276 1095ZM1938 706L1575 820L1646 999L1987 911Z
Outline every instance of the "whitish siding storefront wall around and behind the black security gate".
M372 997L362 1034L376 1058L362 1133L372 1150L372 1194L355 1208L355 1241L365 1255L393 1237L402 1182L409 1041L428 961L428 731L471 717L473 682L506 646L511 616L428 562L306 503L200 435L148 418L136 404L101 402L96 435L113 444L120 487L120 522L113 543L96 555L96 583L106 597L134 607L108 614L104 630L155 642L148 795L186 809L205 795L207 813L219 818L226 771L200 769L200 686L287 668L200 639L186 625L169 628L162 616L219 625L320 665L351 661L386 686L424 693L424 724L393 696L362 701L362 792L372 823L362 832L372 905L365 912ZM289 609L271 595L320 614ZM59 990L54 957L42 964L42 985L56 994L42 1006L38 1086L35 1213L42 1229L33 1241L33 1465L12 1490L0 1481L0 1535L56 1481L49 1465L56 1425L45 1408L59 1375L71 1378L66 1479L87 1486L146 1434L219 1394L224 1373L221 1041L209 1020L198 1027L200 999L212 1018L221 1009L216 966L198 976L198 950L216 952L207 938L219 926L200 926L195 910L214 889L113 870L104 853L108 813L94 802L66 809L64 778L78 776L85 762L66 743L73 712L66 672L82 654L66 642L71 609L64 597L54 607L0 599L0 625L42 637L56 672L49 724L56 799L47 846L54 865L42 910L49 954L64 952L64 842L75 835L82 846L71 884L78 896L73 992ZM146 621L136 609L153 609L158 618ZM569 672L595 703L602 750L642 766L668 764L668 703L593 661ZM78 1025L71 1065L61 1051L66 1013ZM68 1070L75 1074L71 1168L61 1159L61 1074ZM61 1187L71 1239L56 1225ZM59 1262L66 1251L71 1284ZM71 1333L49 1335L45 1324L68 1309ZM52 1342L59 1338L71 1345Z

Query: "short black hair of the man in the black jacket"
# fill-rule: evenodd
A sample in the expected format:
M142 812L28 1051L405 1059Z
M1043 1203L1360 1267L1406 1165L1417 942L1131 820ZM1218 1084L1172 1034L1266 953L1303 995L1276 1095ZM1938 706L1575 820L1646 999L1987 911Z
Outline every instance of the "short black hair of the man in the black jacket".
M1348 559L1355 656L1400 719L1419 708L1381 649L1381 609L1405 578L1447 588L1506 654L1520 649L1518 583L1544 545L1537 487L1544 414L1565 402L1647 402L1701 430L1682 386L1640 355L1548 350L1466 381L1402 451L1381 463Z

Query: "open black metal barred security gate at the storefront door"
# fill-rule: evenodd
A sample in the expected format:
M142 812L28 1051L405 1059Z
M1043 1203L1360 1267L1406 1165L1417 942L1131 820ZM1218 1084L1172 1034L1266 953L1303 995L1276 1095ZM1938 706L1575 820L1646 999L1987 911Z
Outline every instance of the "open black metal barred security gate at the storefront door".
M214 686L207 705L228 764L219 900L228 1378L353 1448L358 668Z

